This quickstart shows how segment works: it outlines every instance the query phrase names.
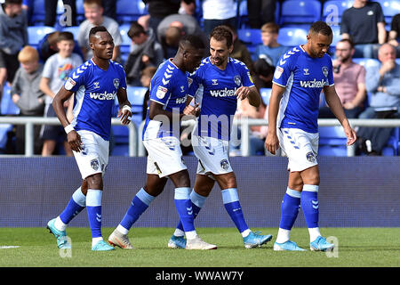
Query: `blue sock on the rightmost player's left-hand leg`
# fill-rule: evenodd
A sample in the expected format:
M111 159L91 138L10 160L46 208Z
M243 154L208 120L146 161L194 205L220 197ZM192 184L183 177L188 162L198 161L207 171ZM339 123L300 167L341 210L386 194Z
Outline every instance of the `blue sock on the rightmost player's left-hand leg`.
M284 230L292 230L292 226L299 215L300 191L287 188L281 205L281 223L279 227Z

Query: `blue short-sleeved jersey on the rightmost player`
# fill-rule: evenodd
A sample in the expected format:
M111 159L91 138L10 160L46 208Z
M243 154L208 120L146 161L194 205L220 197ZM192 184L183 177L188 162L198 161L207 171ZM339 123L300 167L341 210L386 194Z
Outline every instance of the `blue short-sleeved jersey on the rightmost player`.
M279 60L272 82L286 87L276 126L317 133L321 91L324 86L334 84L329 55L312 58L301 45L295 46Z

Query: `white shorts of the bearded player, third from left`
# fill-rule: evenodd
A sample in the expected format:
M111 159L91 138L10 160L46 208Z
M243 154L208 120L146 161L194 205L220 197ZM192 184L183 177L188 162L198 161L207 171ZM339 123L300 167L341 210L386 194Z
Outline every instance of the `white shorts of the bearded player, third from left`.
M223 175L233 171L228 141L192 134L192 146L198 159L198 175Z

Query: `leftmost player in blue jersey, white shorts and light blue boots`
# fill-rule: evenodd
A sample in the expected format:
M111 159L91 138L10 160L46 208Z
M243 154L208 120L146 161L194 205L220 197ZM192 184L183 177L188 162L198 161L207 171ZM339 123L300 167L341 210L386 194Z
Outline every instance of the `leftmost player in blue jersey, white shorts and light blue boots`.
M108 146L112 109L117 96L120 105L118 117L128 125L132 116L131 104L126 95L124 68L110 61L114 41L108 30L102 26L92 28L89 34L93 58L75 69L68 81L55 96L52 106L68 134L68 143L81 172L83 183L67 208L52 219L47 228L57 239L59 248L70 248L65 231L68 223L87 209L92 231L92 250L112 250L101 236L102 175L108 165ZM70 123L63 103L75 94L74 119Z

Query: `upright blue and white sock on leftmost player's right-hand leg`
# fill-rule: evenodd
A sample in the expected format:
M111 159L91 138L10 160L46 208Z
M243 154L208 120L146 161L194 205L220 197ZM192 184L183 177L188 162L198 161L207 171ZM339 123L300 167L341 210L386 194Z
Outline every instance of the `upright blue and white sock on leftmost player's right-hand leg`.
M91 226L92 238L101 237L101 196L103 191L88 189L86 194L86 210Z

